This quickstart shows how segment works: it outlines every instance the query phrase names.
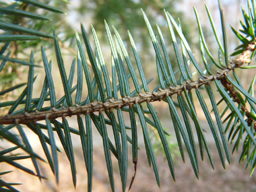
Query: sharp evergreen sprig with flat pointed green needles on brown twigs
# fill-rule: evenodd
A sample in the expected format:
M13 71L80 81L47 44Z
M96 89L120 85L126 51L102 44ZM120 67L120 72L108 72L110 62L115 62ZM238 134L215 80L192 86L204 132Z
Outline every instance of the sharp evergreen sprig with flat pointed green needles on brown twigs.
M245 19L244 23L241 22L243 30L240 30L240 32L242 34L232 28L232 31L236 37L242 42L242 44L237 47L238 51L232 54L240 55L232 61L230 61L227 53L226 29L220 1L219 9L222 23L223 45L220 42L218 34L216 33L216 28L214 26L212 16L210 15L210 11L205 5L214 36L216 38L216 42L219 46L219 51L217 54L218 58L214 58L214 54L210 53L210 50L208 49L207 42L203 36L203 30L199 22L197 11L194 8L195 16L197 18L197 25L199 28L200 51L203 65L201 65L201 63L193 55L192 49L183 34L181 23L175 22L175 20L172 18L172 15L170 15L168 11L164 11L168 29L170 31L170 38L172 40L172 45L174 46L175 57L179 66L179 70L175 72L173 71L172 64L170 63L167 52L168 49L164 42L160 27L157 26L158 34L154 34L154 30L152 29L150 21L141 9L143 18L146 22L146 27L148 28L148 32L150 34L150 39L152 40L152 44L154 46L154 51L156 53L156 66L158 69L157 74L160 84L153 92L149 92L148 90L148 83L152 79L146 81L146 77L142 68L143 63L141 63L139 59L136 45L131 33L128 32L133 55L128 54L129 52L125 47L119 32L115 28L113 28L113 34L115 34L113 38L113 34L111 34L110 28L108 27L106 21L106 34L108 36L112 57L112 77L110 78L110 73L105 65L104 56L102 54L96 30L94 30L92 26L92 34L96 45L96 51L94 54L92 51L92 46L88 40L86 30L84 29L84 26L81 26L82 38L80 38L79 34L75 32L75 38L77 40L77 83L72 88L71 86L73 84L73 76L75 75L75 59L72 62L68 77L64 67L65 64L63 62L63 57L61 56L61 49L59 47L57 34L55 32L53 32L53 35L45 34L44 32L40 32L36 29L20 26L14 22L6 22L5 16L11 15L34 20L49 20L42 15L21 10L22 6L28 4L34 7L46 9L48 11L53 11L55 13L63 13L63 11L60 9L34 0L22 0L0 8L0 13L2 15L0 18L0 29L5 31L0 35L0 59L2 60L2 63L0 64L0 72L4 68L7 61L20 63L21 65L28 65L29 67L28 82L26 84L19 84L0 92L0 96L4 96L13 90L16 90L22 86L26 86L22 94L20 94L20 96L15 101L0 102L1 108L6 106L10 108L6 115L0 116L0 137L1 139L5 139L15 145L13 148L7 148L0 151L0 162L11 164L11 166L15 166L20 170L24 170L28 174L32 174L39 179L45 179L42 175L40 175L40 169L37 164L37 160L43 159L34 152L33 145L28 141L26 137L26 131L24 131L24 127L28 127L34 131L36 135L38 135L38 139L42 144L42 148L46 155L47 161L49 162L49 166L51 167L53 174L55 174L56 181L58 183L58 152L60 150L56 145L56 138L54 137L54 133L57 132L57 135L61 141L61 145L63 146L65 154L67 155L67 158L70 162L73 185L75 186L77 170L75 168L75 158L71 134L77 134L81 138L84 160L86 163L86 169L88 171L88 191L92 191L93 122L102 137L111 189L112 191L115 191L113 163L111 160L112 153L118 160L121 181L123 184L122 189L125 191L127 189L127 180L129 180L127 178L127 157L129 143L131 143L132 146L135 174L137 170L137 125L135 123L135 117L138 117L143 130L143 138L148 156L148 162L153 166L158 185L160 185L160 178L158 174L158 166L156 164L156 155L154 154L152 140L150 139L148 131L148 124L156 128L159 134L164 153L166 154L166 158L168 160L168 166L170 168L172 178L175 181L172 154L170 153L168 141L166 140L166 134L168 133L162 129L160 118L158 117L156 110L151 104L155 101L162 101L168 103L170 109L170 117L172 118L172 123L174 125L174 130L183 161L185 153L184 148L186 148L189 154L191 165L195 172L195 176L198 178L199 160L195 146L195 134L197 134L201 159L203 160L203 153L205 148L207 156L212 164L212 168L214 168L212 155L203 133L203 127L201 127L197 117L197 108L195 107L195 103L193 101L193 98L198 98L199 104L203 110L203 113L205 114L205 119L207 120L212 131L212 135L214 136L214 141L218 149L218 154L220 156L222 166L225 168L225 156L228 160L228 163L230 163L230 154L225 135L225 133L230 130L228 140L231 138L231 142L234 142L233 151L238 149L240 145L239 143L243 143L243 150L241 152L240 161L247 160L246 168L251 166L251 174L253 174L253 170L256 165L256 99L253 97L253 85L255 83L255 79L253 79L251 86L247 91L236 75L235 69L239 69L242 66L243 69L253 68L253 66L244 65L246 63L249 65L251 63L251 59L253 59L255 56L255 0L249 1L248 13L245 13L244 9L242 8L243 16ZM243 34L245 34L246 37L243 36ZM5 54L5 52L11 51L11 47L9 47L11 41L35 40L38 38L52 38L54 40L53 44L55 46L57 63L48 61L44 48L42 47L41 60L44 64L44 71L46 75L44 78L44 85L41 90L40 98L33 98L32 89L36 79L36 76L34 76L34 67L38 67L38 65L34 65L33 51L30 54L30 61L21 61L19 59L10 58L10 53ZM86 51L83 48L82 40L84 40L84 44L86 45ZM180 42L181 49L179 49L178 42ZM162 53L164 53L164 56ZM86 58L86 55L88 55L89 60ZM135 63L132 63L131 57L134 57ZM224 58L225 65L222 63L222 58ZM90 61L93 69L93 80L91 79L88 61ZM127 65L127 69L129 69L129 74L127 74L125 63ZM191 67L189 66L189 63L192 63L193 69L197 71L196 75L192 75L193 73L191 73ZM65 91L65 95L59 100L56 98L55 82L53 81L53 75L51 71L52 65L58 65L62 86ZM137 77L135 73L135 65L137 65L139 70L139 77L141 79L142 85L139 85L139 77ZM219 71L217 70L216 73L213 73L212 71L214 71L216 68ZM177 72L180 72L180 77L175 77ZM88 90L88 97L86 100L82 100L82 89L84 86L83 73L86 75L86 86ZM130 77L131 81L129 81ZM234 77L234 79L232 77ZM112 79L112 85L110 79ZM117 79L119 84L117 84ZM133 92L130 90L132 84L135 87ZM213 91L214 85L216 85L216 88L218 89L218 92L221 96L219 101L216 100L218 96L216 96L216 93ZM144 92L141 91L142 89ZM202 95L203 90L201 89L206 90L210 98L210 104L208 104L208 106L212 106L212 111L214 112L217 125L214 124L214 120L210 115L211 110L208 108L205 102L205 96ZM193 92L193 90L195 90L195 92ZM73 101L71 96L73 92L76 92L75 101ZM119 98L119 95L121 98ZM177 102L174 101L174 96L177 96ZM50 100L50 105L43 106L44 102L48 100ZM226 108L221 113L218 109L218 105L224 102L226 102ZM146 105L142 105L143 103ZM21 104L25 104L25 106L22 106ZM20 109L16 110L18 106ZM144 109L143 107L145 106L147 106L148 109ZM178 112L179 108L181 109L181 115ZM113 113L114 110L117 110L117 115ZM131 127L127 127L125 125L123 112L129 112ZM152 118L146 116L146 113L150 114ZM225 115L226 117L224 119ZM72 116L77 116L78 130L69 126L69 122L67 121L66 117ZM85 125L82 121L83 116L86 119ZM59 117L62 118L62 122L57 120ZM191 117L191 121L189 121L189 117ZM45 121L45 125L38 123L38 121L42 120ZM225 122L228 122L226 128L224 128L223 125ZM196 133L194 133L191 129L191 123L195 124ZM108 138L108 130L106 129L106 125L111 125L113 128L115 144L113 144L112 141L110 141ZM15 129L15 127L19 131L19 136L13 135L13 133L11 133L11 129ZM47 129L48 135L42 133L42 129ZM131 129L131 138L127 135L127 129ZM185 146L183 146L183 143ZM49 152L49 146L51 146L51 153ZM18 149L26 152L28 156L8 155L9 152L14 152ZM36 173L15 162L15 160L24 158L32 159ZM9 172L1 172L0 174L7 173ZM131 189L131 185L135 180L135 174L131 179L129 189ZM5 183L5 181L0 179L0 185L1 189L5 191L8 189L9 191L17 191L14 187L12 187L12 185L15 185L15 183Z

